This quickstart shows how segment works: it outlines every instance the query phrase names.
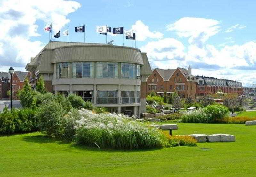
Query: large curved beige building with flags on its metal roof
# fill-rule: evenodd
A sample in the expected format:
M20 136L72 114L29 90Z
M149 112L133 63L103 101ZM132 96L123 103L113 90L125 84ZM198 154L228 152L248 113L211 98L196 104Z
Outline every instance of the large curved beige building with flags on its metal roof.
M75 93L111 112L132 110L138 117L145 111L143 88L152 74L146 53L137 48L54 41L31 58L26 70L35 78L43 75L50 92Z

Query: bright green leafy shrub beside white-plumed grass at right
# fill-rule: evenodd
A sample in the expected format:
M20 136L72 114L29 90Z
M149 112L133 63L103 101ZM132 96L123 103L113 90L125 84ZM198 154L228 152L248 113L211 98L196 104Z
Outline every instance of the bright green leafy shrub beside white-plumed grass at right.
M220 104L208 105L204 108L204 112L209 117L208 123L213 123L214 119L223 119L229 115L228 108Z

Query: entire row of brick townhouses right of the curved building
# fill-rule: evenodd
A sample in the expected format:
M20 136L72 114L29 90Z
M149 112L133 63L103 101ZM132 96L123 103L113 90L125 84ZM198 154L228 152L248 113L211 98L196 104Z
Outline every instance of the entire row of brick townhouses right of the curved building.
M147 79L147 93L152 91L159 95L177 92L181 98L214 94L218 91L223 93L243 94L241 82L227 79L217 79L213 77L193 76L191 66L185 68L159 69L155 68L153 74Z

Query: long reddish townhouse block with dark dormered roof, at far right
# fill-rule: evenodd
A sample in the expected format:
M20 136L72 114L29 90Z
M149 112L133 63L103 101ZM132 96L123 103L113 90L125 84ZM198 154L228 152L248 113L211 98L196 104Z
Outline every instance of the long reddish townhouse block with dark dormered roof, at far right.
M196 76L198 96L214 94L221 90L223 93L243 94L243 85L241 82L236 82L227 79L217 79L214 77Z

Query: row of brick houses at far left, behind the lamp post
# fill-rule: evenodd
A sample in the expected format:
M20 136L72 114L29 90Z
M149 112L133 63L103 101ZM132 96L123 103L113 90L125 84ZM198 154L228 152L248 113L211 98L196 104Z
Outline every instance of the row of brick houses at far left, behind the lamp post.
M18 90L23 88L25 78L30 78L30 72L15 71L12 75L12 95L13 99L18 99ZM9 98L7 91L10 90L10 74L0 72L0 100Z

